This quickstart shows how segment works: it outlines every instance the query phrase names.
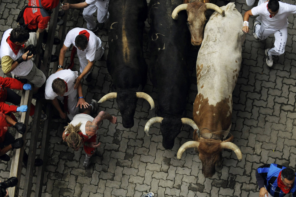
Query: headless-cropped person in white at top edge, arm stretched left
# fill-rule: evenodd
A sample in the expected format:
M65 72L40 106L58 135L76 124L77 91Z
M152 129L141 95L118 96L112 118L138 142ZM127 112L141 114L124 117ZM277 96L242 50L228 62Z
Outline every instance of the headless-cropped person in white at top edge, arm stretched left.
M99 27L97 27L97 23L93 20L93 14L97 11L97 20L100 23L99 26L102 27L102 23L105 23L109 17L109 1L110 0L85 0L85 2L76 4L65 3L62 8L63 10L68 10L69 8L84 8L82 15L87 22L86 27L88 30L95 32L99 30Z

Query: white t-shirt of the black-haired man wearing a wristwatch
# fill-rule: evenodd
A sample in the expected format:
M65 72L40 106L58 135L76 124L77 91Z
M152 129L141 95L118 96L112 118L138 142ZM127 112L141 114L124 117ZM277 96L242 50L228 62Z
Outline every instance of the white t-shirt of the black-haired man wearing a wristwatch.
M80 31L86 30L89 33L89 40L86 49L84 51L79 50L75 45L75 38L79 35ZM77 52L80 54L85 54L86 59L89 61L95 60L96 50L101 49L102 42L99 37L97 37L92 31L76 27L72 30L70 30L66 36L66 39L64 41L64 45L66 47L70 47L71 44L73 44L77 48Z

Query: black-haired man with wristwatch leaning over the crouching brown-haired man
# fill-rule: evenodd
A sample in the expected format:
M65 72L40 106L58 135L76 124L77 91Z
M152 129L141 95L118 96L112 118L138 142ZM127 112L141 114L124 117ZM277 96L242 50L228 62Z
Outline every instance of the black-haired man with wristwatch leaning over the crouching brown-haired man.
M83 44L81 44L81 42ZM97 37L92 31L76 27L68 32L64 41L64 45L60 50L59 67L61 68L58 70L63 69L65 53L71 44L77 48L77 56L80 62L81 74L76 79L74 87L74 89L76 89L82 78L85 78L88 82L91 81L90 71L94 61L99 60L103 56L105 49L102 47L100 38Z

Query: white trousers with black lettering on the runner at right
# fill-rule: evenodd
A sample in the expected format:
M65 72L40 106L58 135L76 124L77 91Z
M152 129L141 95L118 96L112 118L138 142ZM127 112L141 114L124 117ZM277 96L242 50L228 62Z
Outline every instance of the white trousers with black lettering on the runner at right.
M280 30L267 29L264 24L256 25L256 35L260 40L265 40L270 34L274 35L275 42L273 48L268 52L269 55L282 55L285 52L288 30L283 28Z

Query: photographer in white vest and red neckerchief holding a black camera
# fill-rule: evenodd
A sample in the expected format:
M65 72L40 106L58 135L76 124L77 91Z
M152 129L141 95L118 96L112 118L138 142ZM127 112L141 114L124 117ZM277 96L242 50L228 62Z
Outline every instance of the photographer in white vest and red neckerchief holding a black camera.
M27 48L32 44L29 48ZM44 84L46 78L31 60L37 44L36 33L17 27L4 32L0 47L1 66L5 74L27 79L34 84L33 94Z

